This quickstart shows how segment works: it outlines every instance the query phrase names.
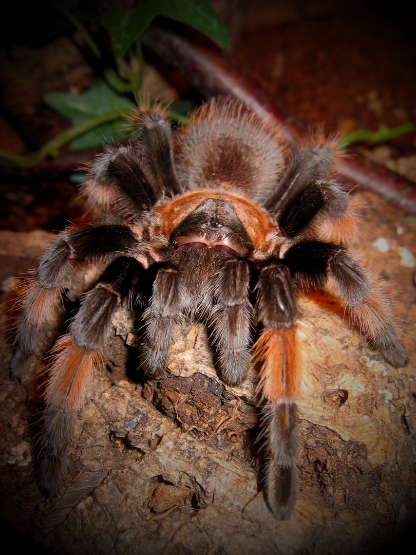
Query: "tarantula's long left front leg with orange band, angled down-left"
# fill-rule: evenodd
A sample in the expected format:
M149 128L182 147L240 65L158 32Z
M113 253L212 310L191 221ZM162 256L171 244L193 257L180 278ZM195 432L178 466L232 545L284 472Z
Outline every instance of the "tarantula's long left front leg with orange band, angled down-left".
M38 445L39 482L50 493L57 490L62 479L63 455L74 413L84 406L110 335L113 315L129 299L143 271L134 258L120 256L113 260L94 289L83 296L68 334L60 337L52 349Z

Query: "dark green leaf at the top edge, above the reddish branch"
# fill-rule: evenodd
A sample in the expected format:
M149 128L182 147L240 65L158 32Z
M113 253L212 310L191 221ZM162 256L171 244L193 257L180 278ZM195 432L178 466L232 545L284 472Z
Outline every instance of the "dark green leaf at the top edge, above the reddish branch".
M169 17L230 48L227 29L206 0L140 0L136 8L103 19L118 62L157 16Z

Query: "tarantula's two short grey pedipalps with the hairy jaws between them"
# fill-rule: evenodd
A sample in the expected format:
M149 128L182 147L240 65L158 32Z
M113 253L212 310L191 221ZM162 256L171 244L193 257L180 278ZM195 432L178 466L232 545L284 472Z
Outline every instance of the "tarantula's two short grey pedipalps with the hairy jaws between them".
M223 246L185 244L158 269L148 309L142 363L161 375L185 317L207 322L227 384L240 384L250 368L250 266Z

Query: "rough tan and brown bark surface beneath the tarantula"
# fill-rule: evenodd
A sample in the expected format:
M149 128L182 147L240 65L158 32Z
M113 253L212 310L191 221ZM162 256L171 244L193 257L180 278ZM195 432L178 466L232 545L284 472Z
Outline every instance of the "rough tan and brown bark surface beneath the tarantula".
M373 552L410 527L416 224L371 194L357 198L370 206L362 209L369 235L354 250L395 284L390 292L400 291L396 314L410 362L389 366L343 321L336 300L305 295L311 357L300 401L301 492L290 520L275 521L262 494L255 371L242 388L226 387L204 328L190 325L166 377L145 378L129 346L131 322L120 317L53 498L37 488L33 455L47 361L12 381L11 347L1 336L0 495L8 534L46 553L324 555ZM19 281L9 278L34 263L50 236L0 233L4 325ZM73 284L74 295L79 287Z

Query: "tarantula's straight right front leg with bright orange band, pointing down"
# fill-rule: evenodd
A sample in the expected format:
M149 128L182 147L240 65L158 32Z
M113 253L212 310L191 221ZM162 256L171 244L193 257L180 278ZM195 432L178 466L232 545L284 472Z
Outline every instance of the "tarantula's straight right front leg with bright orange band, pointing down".
M303 357L296 324L297 287L290 269L271 259L262 266L255 291L263 325L253 361L260 363L259 388L266 402L266 496L275 517L283 519L290 516L298 493L296 399Z

